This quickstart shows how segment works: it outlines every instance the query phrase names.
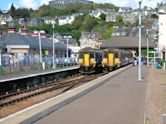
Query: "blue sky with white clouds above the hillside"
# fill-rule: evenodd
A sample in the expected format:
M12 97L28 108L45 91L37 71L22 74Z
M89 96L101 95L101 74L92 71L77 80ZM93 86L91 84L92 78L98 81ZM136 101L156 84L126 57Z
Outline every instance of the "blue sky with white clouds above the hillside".
M48 4L50 0L0 0L0 10L8 10L13 3L15 7L26 7L37 9L40 5ZM138 8L139 0L91 0L95 3L112 3L120 7ZM142 0L143 6L155 7L158 2L165 3L166 0Z

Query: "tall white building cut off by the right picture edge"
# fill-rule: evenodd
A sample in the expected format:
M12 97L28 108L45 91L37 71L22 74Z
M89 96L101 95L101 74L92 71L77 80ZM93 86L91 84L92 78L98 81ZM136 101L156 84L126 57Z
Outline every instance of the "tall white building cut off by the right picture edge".
M161 58L166 58L166 4L159 9L159 52L162 53Z

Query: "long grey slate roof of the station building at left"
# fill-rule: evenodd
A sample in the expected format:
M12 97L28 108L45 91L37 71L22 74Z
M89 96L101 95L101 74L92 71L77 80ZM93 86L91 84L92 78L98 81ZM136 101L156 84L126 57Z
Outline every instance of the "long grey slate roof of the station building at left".
M7 33L0 38L0 48L6 48L7 45L29 45L31 49L38 49L39 38L18 33ZM52 41L48 38L41 38L41 48L52 49ZM55 49L66 50L66 46L62 43L55 43Z

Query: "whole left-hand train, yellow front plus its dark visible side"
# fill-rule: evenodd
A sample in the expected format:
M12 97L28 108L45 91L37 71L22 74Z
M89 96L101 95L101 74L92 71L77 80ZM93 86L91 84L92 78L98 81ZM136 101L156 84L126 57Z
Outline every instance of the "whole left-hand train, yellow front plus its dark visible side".
M102 71L102 52L98 49L84 48L79 51L81 73Z

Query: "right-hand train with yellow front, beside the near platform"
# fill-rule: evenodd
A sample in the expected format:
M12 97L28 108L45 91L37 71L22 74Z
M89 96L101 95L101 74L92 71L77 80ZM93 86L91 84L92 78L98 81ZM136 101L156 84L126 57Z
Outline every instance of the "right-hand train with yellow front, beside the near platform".
M105 49L102 55L102 66L104 72L109 72L116 68L130 63L132 54L130 51L118 49Z

